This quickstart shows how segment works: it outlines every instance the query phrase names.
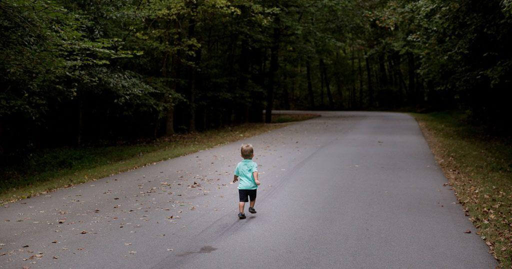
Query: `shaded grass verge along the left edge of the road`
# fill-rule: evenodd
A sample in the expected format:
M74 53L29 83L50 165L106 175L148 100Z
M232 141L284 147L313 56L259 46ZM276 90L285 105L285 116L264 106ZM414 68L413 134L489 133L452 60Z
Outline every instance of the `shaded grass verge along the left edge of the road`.
M47 149L0 168L0 204L71 187L147 164L220 146L316 115L272 115L272 123L245 123L200 133L178 134L124 146ZM233 153L235 154L235 153Z

